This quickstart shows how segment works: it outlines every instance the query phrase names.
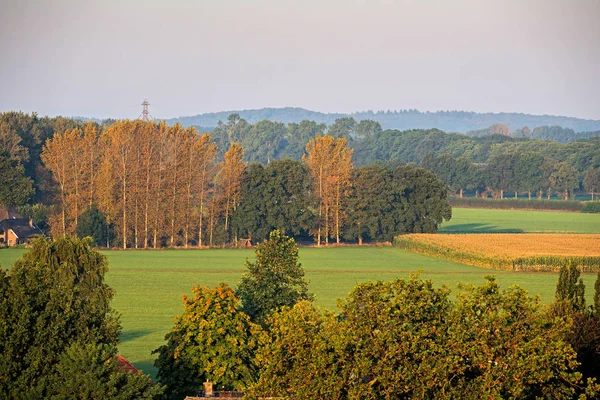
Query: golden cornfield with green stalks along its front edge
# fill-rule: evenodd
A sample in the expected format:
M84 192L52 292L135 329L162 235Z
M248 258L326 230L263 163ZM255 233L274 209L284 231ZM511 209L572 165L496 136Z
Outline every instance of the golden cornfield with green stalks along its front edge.
M600 270L600 235L412 234L395 245L463 264L513 271L559 271L569 262L583 272Z

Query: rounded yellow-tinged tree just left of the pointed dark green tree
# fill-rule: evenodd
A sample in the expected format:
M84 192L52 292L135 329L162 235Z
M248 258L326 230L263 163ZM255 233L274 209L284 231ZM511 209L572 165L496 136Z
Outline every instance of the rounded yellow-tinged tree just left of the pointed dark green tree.
M160 382L168 399L195 395L205 381L219 389L241 390L256 378L254 351L260 327L239 310L239 300L224 283L196 286L184 296L184 312L175 319L167 344L154 351Z

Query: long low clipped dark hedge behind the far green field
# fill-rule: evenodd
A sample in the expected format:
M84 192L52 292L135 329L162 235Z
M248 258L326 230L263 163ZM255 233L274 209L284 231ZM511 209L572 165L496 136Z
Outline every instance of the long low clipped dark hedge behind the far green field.
M480 197L448 197L452 207L489 208L497 210L556 210L581 212L583 202L576 200L482 199ZM599 202L600 203L600 202Z

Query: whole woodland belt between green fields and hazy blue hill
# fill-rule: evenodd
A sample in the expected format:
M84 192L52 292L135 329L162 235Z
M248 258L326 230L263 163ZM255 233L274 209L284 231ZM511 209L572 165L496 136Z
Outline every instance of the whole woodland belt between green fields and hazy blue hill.
M164 122L9 112L0 114L0 203L54 235L101 227L105 234L94 236L107 246L237 243L275 228L319 244L390 240L449 218L443 206L416 200L446 196L417 165L459 196L594 196L600 139L559 143L534 132L501 124L480 136L384 131L346 117L329 126L251 124L233 114L204 134Z

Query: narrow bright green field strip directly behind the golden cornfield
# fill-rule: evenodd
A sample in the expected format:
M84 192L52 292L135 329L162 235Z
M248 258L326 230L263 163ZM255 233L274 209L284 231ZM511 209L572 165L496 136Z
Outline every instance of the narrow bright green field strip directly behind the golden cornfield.
M440 233L600 233L600 214L453 208Z

